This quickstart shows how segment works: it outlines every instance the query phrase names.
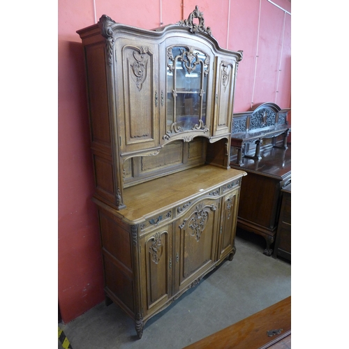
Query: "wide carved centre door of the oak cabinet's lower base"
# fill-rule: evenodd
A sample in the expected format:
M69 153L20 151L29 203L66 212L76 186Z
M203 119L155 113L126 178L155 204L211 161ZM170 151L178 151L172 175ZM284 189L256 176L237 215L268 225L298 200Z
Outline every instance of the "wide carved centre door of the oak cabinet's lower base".
M215 262L219 199L199 201L177 223L176 292L196 283Z

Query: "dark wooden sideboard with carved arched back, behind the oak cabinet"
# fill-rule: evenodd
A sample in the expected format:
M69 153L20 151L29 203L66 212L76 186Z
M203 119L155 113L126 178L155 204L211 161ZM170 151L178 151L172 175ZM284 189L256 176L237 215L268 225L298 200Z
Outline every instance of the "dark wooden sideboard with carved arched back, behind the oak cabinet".
M265 238L265 255L273 253L281 189L291 181L289 111L262 103L233 117L230 165L248 174L242 181L237 226Z

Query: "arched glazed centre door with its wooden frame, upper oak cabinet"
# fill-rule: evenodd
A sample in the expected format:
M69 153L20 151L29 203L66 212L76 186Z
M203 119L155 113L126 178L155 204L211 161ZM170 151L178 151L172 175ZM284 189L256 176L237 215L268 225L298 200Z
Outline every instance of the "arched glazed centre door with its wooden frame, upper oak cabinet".
M199 41L176 38L161 45L164 62L165 125L162 141L209 137L214 54ZM190 133L188 133L190 132Z

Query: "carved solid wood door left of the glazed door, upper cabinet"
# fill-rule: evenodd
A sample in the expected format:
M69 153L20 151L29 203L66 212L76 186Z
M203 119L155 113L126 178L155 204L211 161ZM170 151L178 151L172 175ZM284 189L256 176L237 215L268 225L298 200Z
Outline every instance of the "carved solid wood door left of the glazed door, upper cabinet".
M121 153L159 144L158 45L117 41L117 122Z

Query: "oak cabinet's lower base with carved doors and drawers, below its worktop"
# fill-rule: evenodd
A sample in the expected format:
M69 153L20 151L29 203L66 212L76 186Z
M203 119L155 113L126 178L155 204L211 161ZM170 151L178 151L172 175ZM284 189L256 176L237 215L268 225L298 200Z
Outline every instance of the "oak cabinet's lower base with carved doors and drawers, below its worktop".
M149 318L198 285L225 258L232 260L242 175L163 207L164 214L149 211L143 221L130 222L122 211L94 199L106 301L135 320L139 338Z

